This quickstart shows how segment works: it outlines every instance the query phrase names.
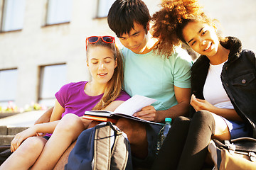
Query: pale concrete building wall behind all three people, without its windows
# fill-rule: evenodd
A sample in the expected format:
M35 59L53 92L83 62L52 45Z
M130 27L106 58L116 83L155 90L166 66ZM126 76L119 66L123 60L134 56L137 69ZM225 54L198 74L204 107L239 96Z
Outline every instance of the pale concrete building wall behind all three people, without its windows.
M159 9L160 0L144 1L151 14ZM114 35L107 26L107 18L95 18L96 0L73 0L71 22L55 26L43 26L46 2L26 0L23 30L0 33L0 70L18 68L16 105L19 107L38 100L38 68L41 65L65 62L68 73L63 76L67 76L68 82L89 80L85 38L89 35ZM225 35L237 36L244 47L256 51L253 43L256 40L255 0L200 2L211 16L220 21ZM2 3L0 0L0 6Z

